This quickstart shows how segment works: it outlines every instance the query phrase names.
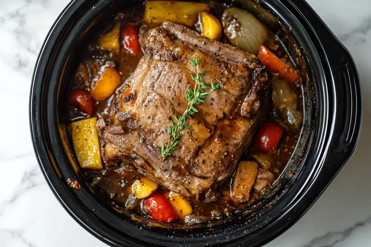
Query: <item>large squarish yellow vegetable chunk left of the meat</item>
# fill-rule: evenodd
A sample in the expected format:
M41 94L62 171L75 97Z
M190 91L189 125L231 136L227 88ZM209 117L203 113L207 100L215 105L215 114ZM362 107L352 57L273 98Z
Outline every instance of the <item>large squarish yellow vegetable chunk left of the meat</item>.
M81 168L103 169L96 117L71 123L73 148Z

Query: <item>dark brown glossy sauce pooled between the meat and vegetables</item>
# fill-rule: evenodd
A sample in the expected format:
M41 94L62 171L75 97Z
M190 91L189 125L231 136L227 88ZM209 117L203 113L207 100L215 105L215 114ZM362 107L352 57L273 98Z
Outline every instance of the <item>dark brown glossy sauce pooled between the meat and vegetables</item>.
M210 12L213 13L220 20L221 13L223 12L224 8L224 6L215 6L214 9L210 10ZM134 21L134 24L139 29L139 27L141 26L140 21L142 20L142 12L141 10L134 12L135 13L132 13L130 15L120 14L118 20L121 20L121 30L123 27L127 26L127 20L131 20L131 23L133 23L133 18L130 18L131 15L135 16L135 19L137 19L137 21ZM112 26L114 26L114 24ZM197 27L195 27L195 29L197 30ZM102 31L102 33L104 33L104 31ZM227 43L227 38L225 36L222 36L221 41ZM265 45L271 50L273 49L272 51L276 54L276 56L290 63L290 59L285 53L285 49L283 49L281 42L275 35L269 33L269 39L265 41ZM118 53L103 51L99 49L97 42L92 43L86 49L81 64L77 69L76 77L72 81L71 90L85 89L87 91L90 91L93 83L97 80L101 71L105 67L115 68L119 72L119 75L121 77L121 84L110 97L108 97L104 101L95 103L94 106L94 113L92 116L96 116L98 118L102 117L105 114L108 114L109 106L111 105L112 101L118 99L119 92L121 92L121 90L125 88L125 83L136 69L142 55L143 54L139 52L137 56L132 56L132 54L128 53L125 49L122 48ZM295 90L295 93L298 95L298 101L301 106L299 108L302 109L302 88L299 84L297 84L297 86L295 86L294 84L292 86L292 89ZM85 118L86 114L82 113L72 105L69 106L70 121L76 121ZM270 106L269 116L267 116L265 122L281 122L281 125L285 126L284 121L282 121L282 118L279 117L279 113L274 109L273 104L272 106ZM274 161L274 164L272 167L269 168L269 171L275 174L275 178L280 174L283 167L285 167L286 163L291 157L293 150L295 149L300 131L301 128L298 128L297 130L289 130L289 128L283 128L283 135L281 141L278 144L277 151L269 154L269 156ZM225 135L228 135L228 133L232 131L224 132L226 132L224 133ZM246 154L244 154L242 160L255 160L253 156L257 153L260 153L260 151L254 141L253 144L248 148ZM121 161L117 162L116 166L105 166L103 170L84 171L86 172L86 176L88 177L89 181L91 181L92 186L104 190L109 197L114 199L123 207L125 205L125 202L127 201L129 194L131 193L132 183L143 176L137 170L137 168L135 168L134 165L129 163L122 163ZM236 204L233 200L231 200L230 197L230 186L232 184L232 181L233 177L228 178L227 181L225 181L225 183L218 188L220 197L217 199L217 201L205 203L196 201L194 199L190 200L191 206L193 208L193 214L195 216L198 216L199 220L201 221L220 219L229 216L229 214L236 209L245 207L259 197L260 193L254 192L248 202ZM157 191L161 191L163 193L168 192L166 188L161 186L158 188ZM138 206L135 207L133 211L137 215L144 215L144 212L141 208L141 203L138 203Z

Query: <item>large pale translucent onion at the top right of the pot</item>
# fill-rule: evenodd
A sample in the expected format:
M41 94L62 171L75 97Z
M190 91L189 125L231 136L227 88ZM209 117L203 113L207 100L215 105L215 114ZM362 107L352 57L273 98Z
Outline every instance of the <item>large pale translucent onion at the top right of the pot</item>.
M226 9L222 22L224 34L230 43L254 54L268 36L266 27L252 14L241 9Z

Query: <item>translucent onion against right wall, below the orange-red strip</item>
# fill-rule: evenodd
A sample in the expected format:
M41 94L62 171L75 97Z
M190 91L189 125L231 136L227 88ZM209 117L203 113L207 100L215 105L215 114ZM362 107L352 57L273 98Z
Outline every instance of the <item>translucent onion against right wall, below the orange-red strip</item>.
M282 117L287 120L290 126L299 128L303 116L298 111L298 99L296 93L290 89L288 81L278 77L273 78L273 105L280 111Z

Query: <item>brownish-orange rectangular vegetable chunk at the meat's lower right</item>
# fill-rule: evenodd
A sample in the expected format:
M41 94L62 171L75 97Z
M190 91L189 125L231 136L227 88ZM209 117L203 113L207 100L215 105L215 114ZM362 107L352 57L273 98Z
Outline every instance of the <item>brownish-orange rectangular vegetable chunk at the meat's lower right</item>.
M258 165L254 161L240 161L234 174L232 198L240 203L250 200L250 190L255 183Z

